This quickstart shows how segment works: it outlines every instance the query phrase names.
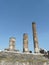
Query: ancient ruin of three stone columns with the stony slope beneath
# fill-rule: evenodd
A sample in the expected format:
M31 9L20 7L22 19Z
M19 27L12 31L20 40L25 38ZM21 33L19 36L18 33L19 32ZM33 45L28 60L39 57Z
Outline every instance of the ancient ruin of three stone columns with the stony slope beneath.
M0 65L49 65L49 51L39 48L35 22L32 23L32 31L34 53L29 51L27 33L23 34L23 52L16 50L16 38L10 37L9 47L0 51Z

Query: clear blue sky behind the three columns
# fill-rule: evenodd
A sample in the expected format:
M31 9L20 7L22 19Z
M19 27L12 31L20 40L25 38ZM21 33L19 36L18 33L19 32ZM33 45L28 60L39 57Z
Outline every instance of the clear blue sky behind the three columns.
M0 49L16 37L16 49L23 50L23 34L28 33L29 50L34 51L32 22L36 22L40 48L49 50L49 0L0 0Z

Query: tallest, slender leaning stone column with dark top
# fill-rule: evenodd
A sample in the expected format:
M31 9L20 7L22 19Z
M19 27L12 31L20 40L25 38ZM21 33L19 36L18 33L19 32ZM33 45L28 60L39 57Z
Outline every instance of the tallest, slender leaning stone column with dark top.
M32 30L33 30L34 52L39 53L38 38L37 38L35 22L32 23Z

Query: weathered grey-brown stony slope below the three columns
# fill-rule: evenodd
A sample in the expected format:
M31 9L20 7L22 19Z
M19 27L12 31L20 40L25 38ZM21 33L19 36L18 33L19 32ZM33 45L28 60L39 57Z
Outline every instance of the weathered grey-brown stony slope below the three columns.
M0 52L0 65L49 65L44 55Z

